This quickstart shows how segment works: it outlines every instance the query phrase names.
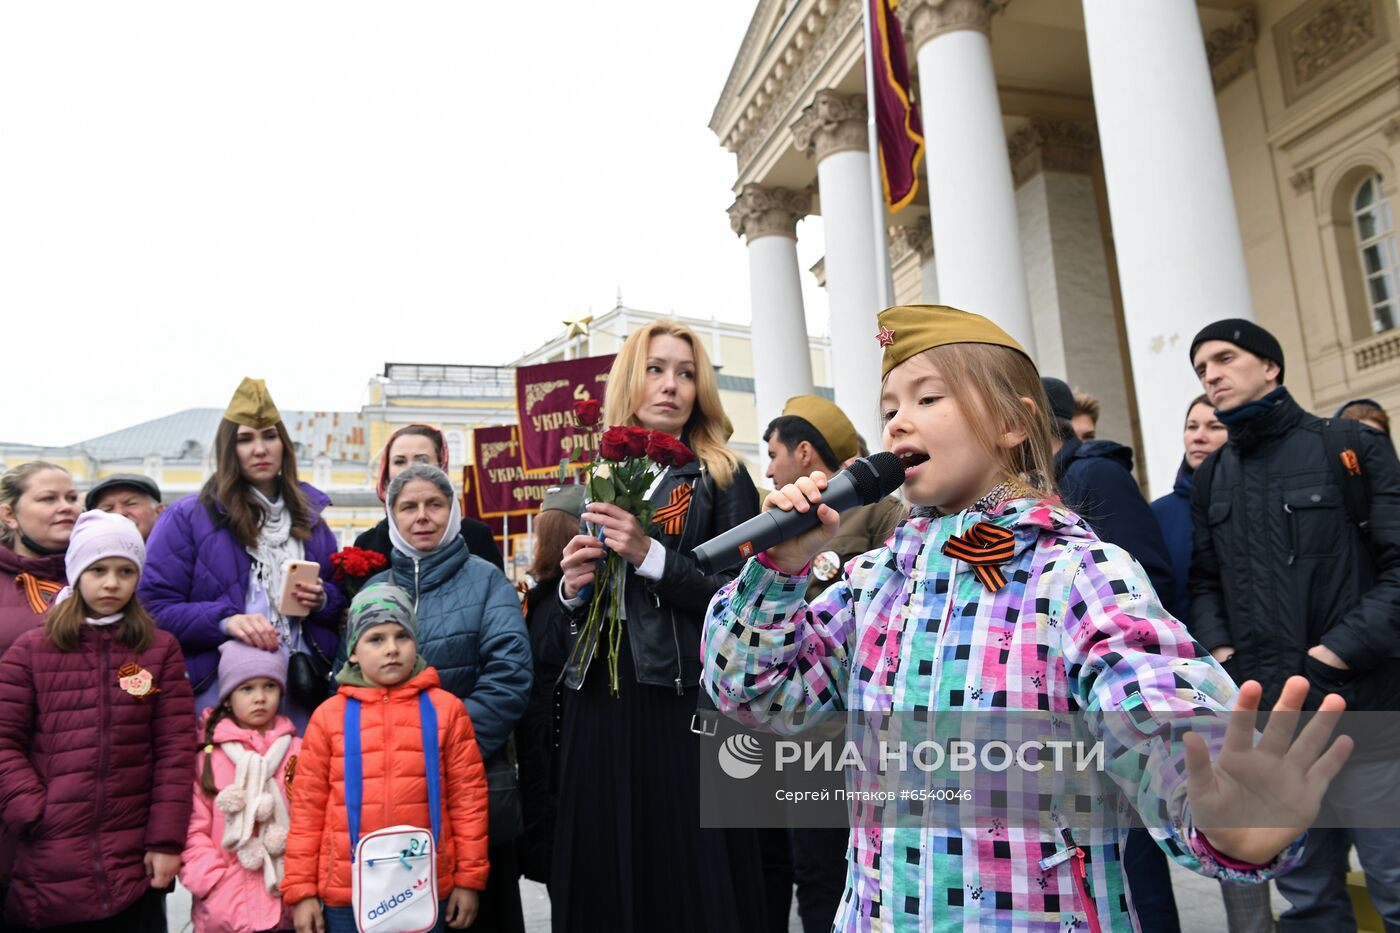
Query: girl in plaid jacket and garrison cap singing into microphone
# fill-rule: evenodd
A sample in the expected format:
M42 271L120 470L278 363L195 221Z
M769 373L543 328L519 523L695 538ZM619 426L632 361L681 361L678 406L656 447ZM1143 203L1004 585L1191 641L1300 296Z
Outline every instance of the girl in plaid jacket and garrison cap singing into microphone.
M720 709L777 731L825 712L1071 720L1110 740L1105 783L1169 857L1235 883L1287 867L1351 740L1323 752L1319 719L1289 747L1274 717L1259 747L1243 721L1214 748L1200 735L1169 741L1173 714L1254 710L1259 685L1236 689L1131 556L1056 497L1047 402L1011 336L934 305L889 308L879 325L883 443L907 464L916 517L806 604L811 560L840 517L818 504L822 474L770 495L766 509L816 509L822 524L750 559L710 604L703 682ZM1305 695L1294 678L1275 710ZM1323 709L1341 705L1331 696ZM1116 714L1131 717L1135 744L1105 734ZM1126 828L1091 813L1099 831L1075 839L1064 813L1035 810L1022 828L987 807L857 807L836 929L1135 929Z

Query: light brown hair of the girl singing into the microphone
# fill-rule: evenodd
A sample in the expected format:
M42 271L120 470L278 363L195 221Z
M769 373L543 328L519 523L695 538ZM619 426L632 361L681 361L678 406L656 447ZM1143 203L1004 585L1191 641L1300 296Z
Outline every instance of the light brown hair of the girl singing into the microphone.
M948 394L962 405L977 447L1001 466L1004 481L1039 499L1053 499L1054 455L1050 401L1040 373L1025 354L988 343L949 343L924 350ZM1033 409L1022 399L1029 398ZM997 443L1004 433L1022 433L1019 447Z

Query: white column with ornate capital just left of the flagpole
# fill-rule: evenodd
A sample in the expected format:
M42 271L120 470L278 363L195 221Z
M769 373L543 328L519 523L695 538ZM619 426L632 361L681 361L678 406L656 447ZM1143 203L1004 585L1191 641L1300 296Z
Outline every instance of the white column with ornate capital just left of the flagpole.
M879 331L875 266L875 205L871 200L865 97L818 91L792 125L799 150L816 157L822 228L826 231L826 294L832 314L832 388L836 405L867 441L879 445Z

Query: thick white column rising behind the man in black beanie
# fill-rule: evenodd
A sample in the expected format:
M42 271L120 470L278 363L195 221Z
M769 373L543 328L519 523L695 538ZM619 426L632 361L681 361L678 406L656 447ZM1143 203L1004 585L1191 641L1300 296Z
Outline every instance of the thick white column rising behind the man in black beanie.
M1187 353L1211 321L1253 318L1245 248L1191 0L1085 0L1093 106L1154 496L1170 492Z

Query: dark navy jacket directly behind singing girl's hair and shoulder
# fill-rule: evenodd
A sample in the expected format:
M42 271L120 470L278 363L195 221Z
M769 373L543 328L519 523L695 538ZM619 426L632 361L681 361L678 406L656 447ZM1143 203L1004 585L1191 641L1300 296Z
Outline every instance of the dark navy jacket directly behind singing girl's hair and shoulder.
M1054 474L1064 504L1089 523L1100 541L1133 555L1162 605L1172 605L1172 562L1156 517L1133 479L1133 451L1116 441L1071 437L1054 455Z

